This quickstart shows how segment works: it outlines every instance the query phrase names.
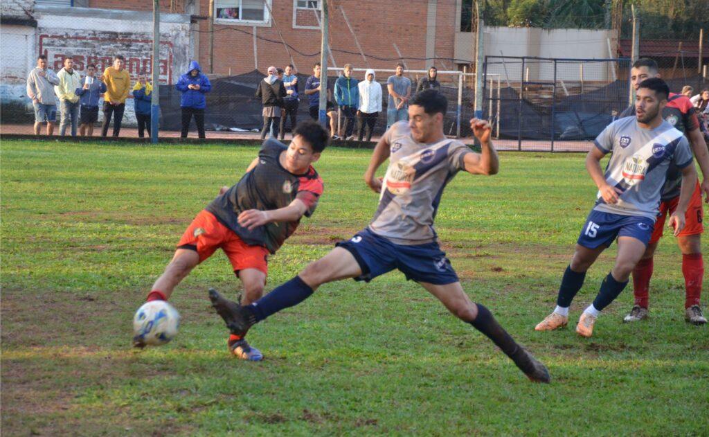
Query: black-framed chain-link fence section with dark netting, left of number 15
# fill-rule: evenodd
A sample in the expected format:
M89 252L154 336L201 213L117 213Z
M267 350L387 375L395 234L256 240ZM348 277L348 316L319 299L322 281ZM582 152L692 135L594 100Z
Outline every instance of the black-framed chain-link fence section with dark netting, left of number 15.
M488 56L485 72L501 74L502 85L498 95L485 89L486 118L499 123L505 148L588 150L628 105L629 66L627 58ZM500 109L487 114L491 106Z

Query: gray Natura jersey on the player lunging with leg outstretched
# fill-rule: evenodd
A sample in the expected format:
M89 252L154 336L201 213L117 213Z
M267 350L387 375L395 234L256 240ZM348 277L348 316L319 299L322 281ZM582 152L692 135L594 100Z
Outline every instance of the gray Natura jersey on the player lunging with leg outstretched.
M416 143L406 121L394 123L384 138L391 155L369 229L396 244L431 243L437 238L433 219L443 189L472 152L457 140Z

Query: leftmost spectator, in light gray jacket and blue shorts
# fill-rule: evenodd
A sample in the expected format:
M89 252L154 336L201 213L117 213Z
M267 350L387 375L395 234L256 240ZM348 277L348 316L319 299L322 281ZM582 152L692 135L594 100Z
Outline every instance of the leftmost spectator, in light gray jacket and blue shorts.
M27 77L27 96L32 99L35 108L35 135L40 134L42 123L47 122L47 135L54 133L57 119L57 101L54 87L59 84L59 77L47 67L47 57L37 57L35 67Z

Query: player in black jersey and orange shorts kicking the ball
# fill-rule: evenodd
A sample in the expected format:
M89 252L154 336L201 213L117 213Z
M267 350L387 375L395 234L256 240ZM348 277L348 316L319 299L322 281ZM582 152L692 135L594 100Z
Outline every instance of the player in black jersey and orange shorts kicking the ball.
M313 214L323 194L323 179L312 164L320 159L328 136L315 121L303 121L294 129L289 146L265 141L240 181L222 187L218 197L197 214L147 300L167 300L174 287L219 248L244 286L244 301L258 300L266 284L267 256L291 236L301 217ZM145 346L139 338L134 345ZM228 346L243 360L263 358L243 336L230 336Z

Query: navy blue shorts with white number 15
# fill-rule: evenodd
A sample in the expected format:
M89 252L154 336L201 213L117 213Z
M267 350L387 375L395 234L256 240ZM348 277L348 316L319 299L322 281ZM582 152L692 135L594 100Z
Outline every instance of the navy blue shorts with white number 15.
M654 226L654 220L647 217L591 211L576 243L595 249L600 245L609 247L618 237L632 237L647 246Z

